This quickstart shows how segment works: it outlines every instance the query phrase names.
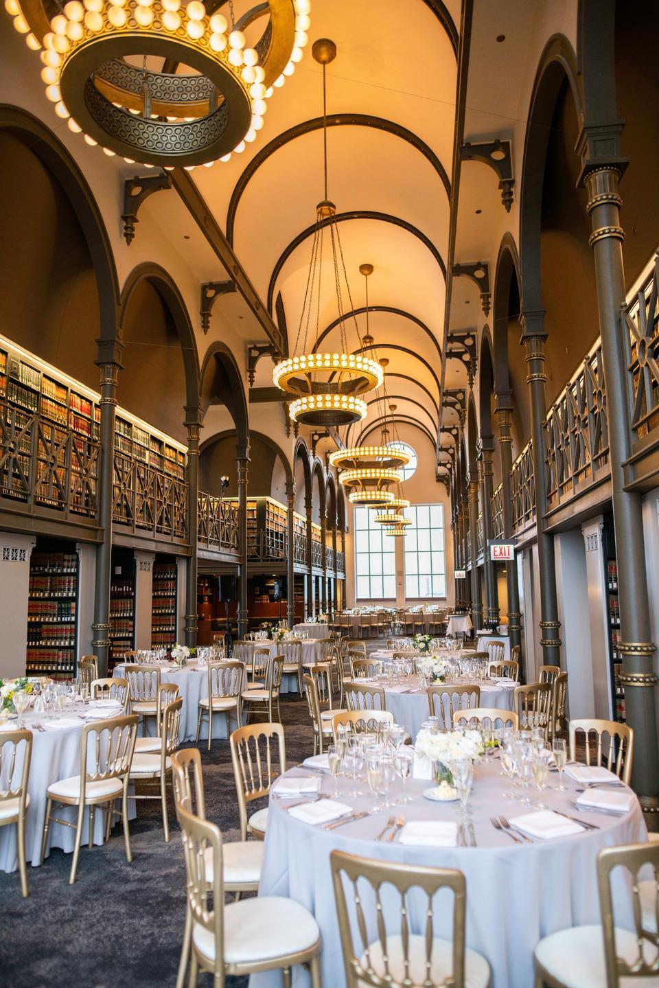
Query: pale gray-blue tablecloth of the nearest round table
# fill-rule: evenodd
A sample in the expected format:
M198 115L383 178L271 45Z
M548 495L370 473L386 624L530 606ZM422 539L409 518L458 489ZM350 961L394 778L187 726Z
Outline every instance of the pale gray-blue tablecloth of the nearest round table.
M494 829L490 817L503 814L511 819L530 810L517 801L503 798L507 780L500 778L499 771L498 758L475 767L469 807L476 847L413 847L399 844L397 838L392 843L375 843L374 836L391 813L403 815L407 822L455 818L455 804L431 802L422 796L423 789L431 784L427 781L408 780L407 790L415 797L413 802L371 813L335 830L314 827L290 816L287 803L297 799L271 797L259 894L288 896L313 913L322 937L320 959L324 984L332 988L344 988L346 984L329 862L330 852L335 848L379 861L429 864L462 871L466 878L466 946L478 950L489 961L493 988L530 988L534 984L534 948L542 937L566 927L601 922L597 855L606 847L647 840L638 801L634 800L631 810L619 817L582 814L570 805L577 783L564 778L567 791L544 791L541 801L550 808L581 817L599 829L515 844L507 834ZM288 777L300 775L304 775L303 768L287 773ZM550 775L549 783L555 779L555 775ZM350 796L347 793L351 782L340 779L338 783L342 802L356 810L371 809L371 796ZM396 780L391 793L399 795L400 786L401 782ZM368 789L366 782L358 787ZM332 788L333 781L323 777L322 789L330 792ZM539 794L535 789L531 795L537 802ZM630 907L628 915L624 915L626 886L618 872L614 874L617 915L620 925L633 929ZM619 911L618 900L622 902ZM412 932L423 933L425 917L410 915ZM448 913L436 912L436 936L451 937L451 924ZM308 984L306 972L294 967L293 988ZM250 978L250 988L280 985L279 972Z

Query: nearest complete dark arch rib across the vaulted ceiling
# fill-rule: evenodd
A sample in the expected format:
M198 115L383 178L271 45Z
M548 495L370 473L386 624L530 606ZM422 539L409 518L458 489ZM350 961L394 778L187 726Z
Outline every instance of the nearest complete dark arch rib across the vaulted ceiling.
M274 137L268 144L266 144L265 147L261 148L258 154L252 158L234 186L231 194L231 200L227 209L226 238L230 244L233 244L236 212L240 204L240 200L242 199L243 193L247 189L247 186L252 178L258 172L259 168L261 168L261 166L265 164L273 154L290 143L290 141L296 140L304 134L312 133L314 130L320 130L322 125L322 117L316 117L313 120L305 121L303 124L295 124L283 133L278 134L277 137ZM371 117L367 114L333 114L327 119L327 126L369 127L371 130L384 130L387 133L398 137L400 140L407 141L412 145L412 147L419 151L420 154L423 154L423 156L432 165L439 176L442 185L444 186L448 200L451 200L451 181L444 165L440 161L439 156L424 140L421 139L421 137L419 137L418 134L414 133L412 130L408 130L407 127L404 127L401 124L396 124L393 121L385 120L382 117Z

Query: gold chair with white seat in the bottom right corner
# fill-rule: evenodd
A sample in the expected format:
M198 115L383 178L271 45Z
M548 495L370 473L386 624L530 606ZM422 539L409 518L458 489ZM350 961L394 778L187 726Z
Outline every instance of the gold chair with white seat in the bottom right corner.
M653 878L640 881L640 874L647 870ZM656 844L601 851L597 878L602 925L571 927L544 937L535 947L535 988L622 988L636 983L653 988L659 984L658 871ZM630 889L630 894L621 895L620 887ZM618 908L626 912L624 927L616 925ZM633 929L628 929L632 924Z

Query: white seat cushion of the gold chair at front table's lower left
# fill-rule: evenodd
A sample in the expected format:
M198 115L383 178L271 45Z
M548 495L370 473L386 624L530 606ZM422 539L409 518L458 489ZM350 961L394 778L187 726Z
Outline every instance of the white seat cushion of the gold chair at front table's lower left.
M308 950L317 944L319 937L318 924L311 913L292 899L264 895L224 906L227 964L274 960ZM215 940L205 927L195 924L193 941L200 953L214 960Z

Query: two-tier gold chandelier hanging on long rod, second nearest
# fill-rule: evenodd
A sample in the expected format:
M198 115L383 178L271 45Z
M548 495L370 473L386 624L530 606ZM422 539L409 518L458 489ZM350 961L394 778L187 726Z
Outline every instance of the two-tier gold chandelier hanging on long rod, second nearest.
M288 405L291 421L306 426L345 426L366 418L368 407L361 395L381 385L383 371L376 361L361 353L350 353L345 326L346 305L354 310L350 286L345 274L346 265L341 247L339 226L336 222L336 206L327 191L327 65L336 57L336 44L328 38L314 41L312 53L322 65L323 73L323 166L324 198L316 206L316 223L311 245L311 260L306 279L304 303L299 319L294 350L301 354L281 360L273 371L273 381L293 400ZM332 285L336 292L341 333L339 353L316 353L319 345L318 318L321 311L321 282L325 235L329 236ZM341 273L343 272L342 285ZM315 321L315 344L307 353L309 329ZM355 320L357 328L357 320ZM359 330L357 338L361 347Z

